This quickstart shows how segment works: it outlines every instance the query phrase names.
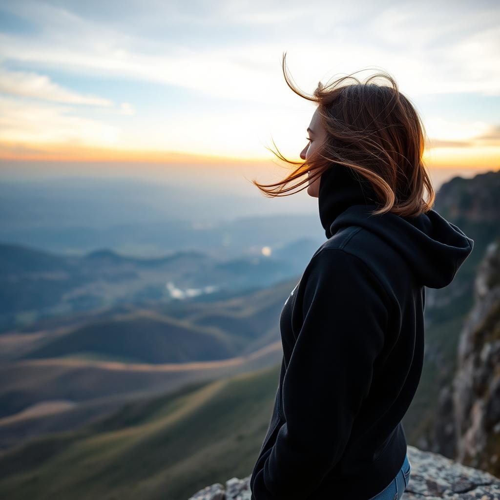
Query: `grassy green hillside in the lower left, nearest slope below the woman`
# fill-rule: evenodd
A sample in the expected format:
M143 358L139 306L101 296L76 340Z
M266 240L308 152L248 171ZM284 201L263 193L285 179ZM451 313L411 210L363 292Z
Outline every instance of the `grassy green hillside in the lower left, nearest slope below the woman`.
M185 500L245 476L269 422L279 364L125 404L0 455L0 496Z

